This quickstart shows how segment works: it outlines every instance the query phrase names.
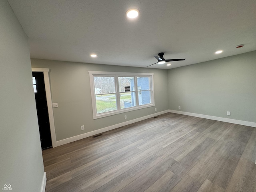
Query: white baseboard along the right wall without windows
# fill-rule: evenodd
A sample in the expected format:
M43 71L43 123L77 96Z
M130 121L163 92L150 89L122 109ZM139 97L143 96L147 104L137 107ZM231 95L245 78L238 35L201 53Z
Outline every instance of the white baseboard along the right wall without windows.
M250 127L256 127L256 123L254 123L254 122L241 121L241 120L236 120L236 119L229 119L229 118L216 117L216 116L210 116L210 115L202 115L202 114L197 114L197 113L190 113L190 112L176 111L176 110L168 110L168 112L182 114L182 115L188 115L188 116L194 116L194 117L200 117L200 118L205 118L205 119L211 119L211 120L216 120L216 121L222 121L222 122L227 122L227 123L245 125L245 126L250 126Z

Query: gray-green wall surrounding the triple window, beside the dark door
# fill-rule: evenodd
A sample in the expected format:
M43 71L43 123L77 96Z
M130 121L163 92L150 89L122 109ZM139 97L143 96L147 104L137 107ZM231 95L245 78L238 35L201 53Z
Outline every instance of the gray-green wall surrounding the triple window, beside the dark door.
M58 108L53 108L57 141L168 110L167 70L40 59L31 59L31 64L32 67L50 68L52 102L58 103ZM154 73L155 107L93 120L88 71ZM81 125L85 130L81 131Z

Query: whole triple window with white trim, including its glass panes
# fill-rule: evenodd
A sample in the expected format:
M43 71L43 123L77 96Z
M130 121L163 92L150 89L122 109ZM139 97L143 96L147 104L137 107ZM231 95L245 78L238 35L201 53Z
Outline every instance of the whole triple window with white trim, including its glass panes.
M154 106L153 74L89 74L94 119Z

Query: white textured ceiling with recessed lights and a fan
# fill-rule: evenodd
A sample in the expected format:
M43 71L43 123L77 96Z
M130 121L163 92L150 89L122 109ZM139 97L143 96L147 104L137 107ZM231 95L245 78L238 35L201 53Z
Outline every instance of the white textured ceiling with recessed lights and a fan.
M159 52L186 58L150 66L168 69L256 50L256 0L8 2L28 35L31 58L136 67L155 63ZM136 20L126 18L130 8L140 11Z

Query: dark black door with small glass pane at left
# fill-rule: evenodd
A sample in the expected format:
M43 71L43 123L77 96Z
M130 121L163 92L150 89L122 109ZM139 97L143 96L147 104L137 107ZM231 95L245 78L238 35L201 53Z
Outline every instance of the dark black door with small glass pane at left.
M44 86L44 73L32 72L34 92L36 97L36 110L42 150L52 147L50 122Z

